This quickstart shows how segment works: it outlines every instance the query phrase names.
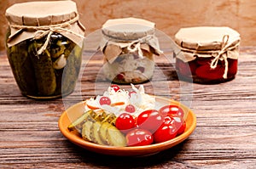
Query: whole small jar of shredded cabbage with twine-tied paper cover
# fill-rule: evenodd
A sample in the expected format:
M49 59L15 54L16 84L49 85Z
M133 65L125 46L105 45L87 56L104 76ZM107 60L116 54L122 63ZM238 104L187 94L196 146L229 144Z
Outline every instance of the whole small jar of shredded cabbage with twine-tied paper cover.
M154 55L160 55L154 23L137 18L107 20L102 25L103 72L120 84L147 82L154 74Z

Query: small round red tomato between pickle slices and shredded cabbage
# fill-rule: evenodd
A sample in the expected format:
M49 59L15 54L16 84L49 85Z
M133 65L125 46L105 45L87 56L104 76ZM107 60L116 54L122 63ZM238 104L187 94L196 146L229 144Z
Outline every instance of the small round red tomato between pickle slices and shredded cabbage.
M136 127L136 121L131 114L122 113L117 117L115 127L117 127L121 132L127 132L127 130Z

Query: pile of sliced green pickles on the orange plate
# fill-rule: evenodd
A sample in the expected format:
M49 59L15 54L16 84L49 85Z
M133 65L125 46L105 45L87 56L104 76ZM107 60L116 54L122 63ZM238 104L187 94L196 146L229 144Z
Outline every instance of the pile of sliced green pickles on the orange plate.
M125 135L114 127L116 116L104 111L89 110L73 121L67 128L69 131L77 129L84 140L116 147L126 146Z

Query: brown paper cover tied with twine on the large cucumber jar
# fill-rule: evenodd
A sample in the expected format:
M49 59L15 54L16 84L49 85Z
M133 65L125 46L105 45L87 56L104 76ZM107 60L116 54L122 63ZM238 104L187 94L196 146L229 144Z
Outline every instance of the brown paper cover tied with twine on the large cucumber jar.
M47 36L44 45L37 52L42 54L54 32L82 46L85 28L79 22L76 3L73 1L16 3L6 10L5 15L11 31L7 40L8 47L26 39Z

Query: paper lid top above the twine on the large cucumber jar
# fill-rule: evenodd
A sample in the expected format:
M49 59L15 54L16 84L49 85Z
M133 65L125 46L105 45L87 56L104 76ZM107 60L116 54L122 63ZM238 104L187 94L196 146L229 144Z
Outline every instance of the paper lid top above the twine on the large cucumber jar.
M6 10L6 18L12 25L55 25L72 20L77 15L73 1L15 3Z

